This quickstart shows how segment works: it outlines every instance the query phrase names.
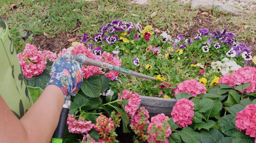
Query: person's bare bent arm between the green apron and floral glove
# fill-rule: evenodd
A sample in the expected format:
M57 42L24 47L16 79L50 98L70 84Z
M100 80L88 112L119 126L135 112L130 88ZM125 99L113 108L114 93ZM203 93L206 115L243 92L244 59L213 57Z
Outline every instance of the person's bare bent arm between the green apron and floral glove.
M49 143L57 127L63 103L62 90L49 85L19 120L0 96L0 142Z

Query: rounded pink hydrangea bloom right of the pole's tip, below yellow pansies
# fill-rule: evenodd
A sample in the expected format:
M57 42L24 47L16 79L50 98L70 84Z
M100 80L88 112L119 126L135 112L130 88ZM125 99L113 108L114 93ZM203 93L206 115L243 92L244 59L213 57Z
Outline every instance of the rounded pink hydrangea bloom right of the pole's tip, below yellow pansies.
M175 96L180 92L186 92L196 97L198 94L206 94L206 87L195 79L186 80L181 82L175 89Z

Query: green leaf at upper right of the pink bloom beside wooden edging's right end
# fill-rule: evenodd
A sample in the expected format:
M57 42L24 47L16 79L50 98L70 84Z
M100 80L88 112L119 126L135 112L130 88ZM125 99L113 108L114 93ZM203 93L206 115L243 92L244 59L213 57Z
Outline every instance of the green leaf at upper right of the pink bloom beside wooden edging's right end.
M204 113L212 107L213 102L213 100L208 98L202 99L199 103L197 103L194 106L194 110L200 113Z

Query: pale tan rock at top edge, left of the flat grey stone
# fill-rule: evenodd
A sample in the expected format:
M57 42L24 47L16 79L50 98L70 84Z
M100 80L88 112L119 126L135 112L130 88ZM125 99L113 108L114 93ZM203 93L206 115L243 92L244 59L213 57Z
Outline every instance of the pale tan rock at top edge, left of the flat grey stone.
M200 8L201 10L208 10L213 7L213 0L192 0L191 9Z

